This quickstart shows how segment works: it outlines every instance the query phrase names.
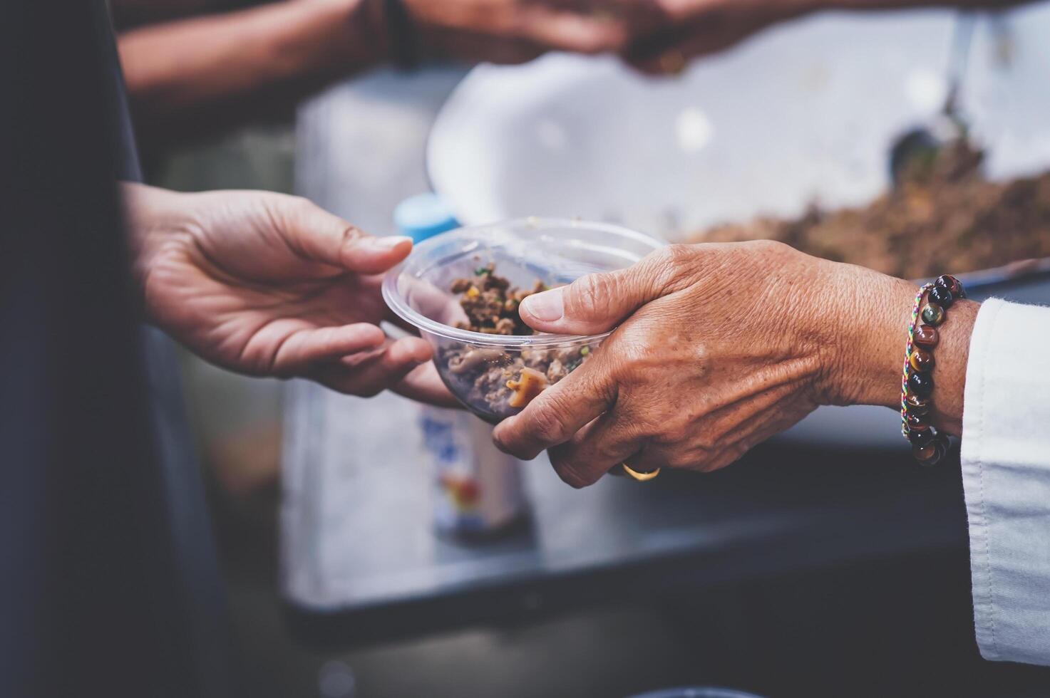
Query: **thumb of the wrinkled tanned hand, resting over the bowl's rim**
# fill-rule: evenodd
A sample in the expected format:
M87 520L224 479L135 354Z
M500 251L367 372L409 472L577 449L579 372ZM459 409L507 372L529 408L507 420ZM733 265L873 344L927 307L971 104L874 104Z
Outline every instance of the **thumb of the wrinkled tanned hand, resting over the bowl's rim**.
M659 295L646 266L582 276L569 285L526 297L519 313L533 330L560 335L608 332Z

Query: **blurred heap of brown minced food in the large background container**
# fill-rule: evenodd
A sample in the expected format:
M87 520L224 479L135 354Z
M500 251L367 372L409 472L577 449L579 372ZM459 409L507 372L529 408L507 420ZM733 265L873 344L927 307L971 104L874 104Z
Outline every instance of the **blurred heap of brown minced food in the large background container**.
M924 278L1050 256L1050 172L989 182L964 141L915 158L901 185L861 208L710 228L692 242L773 239L827 259Z

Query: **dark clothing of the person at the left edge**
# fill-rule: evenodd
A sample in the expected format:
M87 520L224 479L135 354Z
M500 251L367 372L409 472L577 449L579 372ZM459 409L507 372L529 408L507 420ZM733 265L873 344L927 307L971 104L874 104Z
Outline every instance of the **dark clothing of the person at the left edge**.
M114 57L101 0L0 6L0 696L231 695L198 475L145 388Z

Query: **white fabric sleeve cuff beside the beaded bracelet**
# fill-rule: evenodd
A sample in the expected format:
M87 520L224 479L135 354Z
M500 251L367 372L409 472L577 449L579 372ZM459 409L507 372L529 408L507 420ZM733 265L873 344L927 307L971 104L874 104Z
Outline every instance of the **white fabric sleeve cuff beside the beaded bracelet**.
M1050 664L1050 308L978 313L962 466L981 655Z

